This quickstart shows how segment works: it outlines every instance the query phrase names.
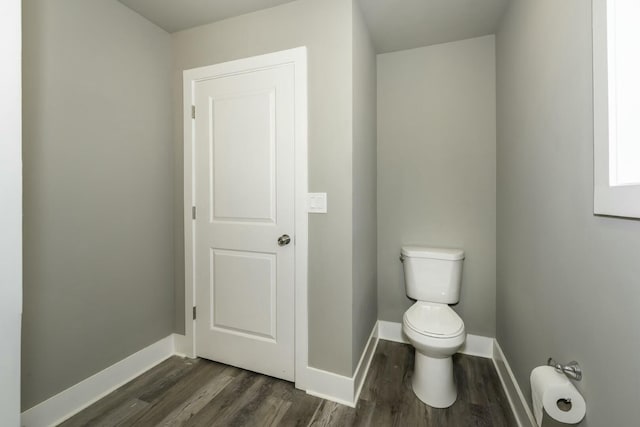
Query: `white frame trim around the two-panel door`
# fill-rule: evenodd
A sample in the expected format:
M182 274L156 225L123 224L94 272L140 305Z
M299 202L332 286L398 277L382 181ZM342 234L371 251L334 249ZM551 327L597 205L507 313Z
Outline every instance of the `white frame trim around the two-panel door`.
M177 350L187 357L196 357L195 320L192 316L196 306L195 292L195 233L196 225L192 219L192 207L196 206L194 180L194 119L192 105L195 104L194 88L198 81L242 74L284 64L294 66L295 91L295 237L294 237L294 295L295 295L295 384L306 388L305 372L308 367L308 135L307 135L307 49L294 49L253 56L224 62L206 67L185 70L183 73L183 123L184 123L184 252L185 252L185 338L177 342Z

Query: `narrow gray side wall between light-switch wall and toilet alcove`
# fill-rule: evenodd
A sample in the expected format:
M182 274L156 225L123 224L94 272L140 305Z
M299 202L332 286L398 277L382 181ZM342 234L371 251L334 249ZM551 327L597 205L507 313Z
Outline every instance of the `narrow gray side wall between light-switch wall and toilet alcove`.
M355 370L378 320L376 53L353 0L353 350Z

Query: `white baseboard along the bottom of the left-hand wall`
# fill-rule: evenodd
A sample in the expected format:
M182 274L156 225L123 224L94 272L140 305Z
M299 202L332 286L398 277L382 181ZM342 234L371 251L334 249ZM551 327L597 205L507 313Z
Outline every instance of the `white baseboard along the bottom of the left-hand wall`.
M115 389L174 355L174 336L143 348L78 384L26 410L23 427L44 427L61 423Z

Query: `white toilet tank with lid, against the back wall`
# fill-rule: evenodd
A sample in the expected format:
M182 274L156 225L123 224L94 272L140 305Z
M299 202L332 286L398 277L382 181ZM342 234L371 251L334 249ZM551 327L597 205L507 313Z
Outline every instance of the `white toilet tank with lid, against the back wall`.
M405 246L401 260L409 298L455 304L460 299L462 249Z

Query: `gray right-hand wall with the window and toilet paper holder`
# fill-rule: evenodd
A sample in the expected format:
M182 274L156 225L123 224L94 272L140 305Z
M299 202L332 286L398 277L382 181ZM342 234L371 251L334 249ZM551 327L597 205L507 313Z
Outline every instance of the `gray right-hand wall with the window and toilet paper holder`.
M593 215L591 2L514 0L497 35L498 340L527 398L578 360L584 426L638 424L640 222Z

